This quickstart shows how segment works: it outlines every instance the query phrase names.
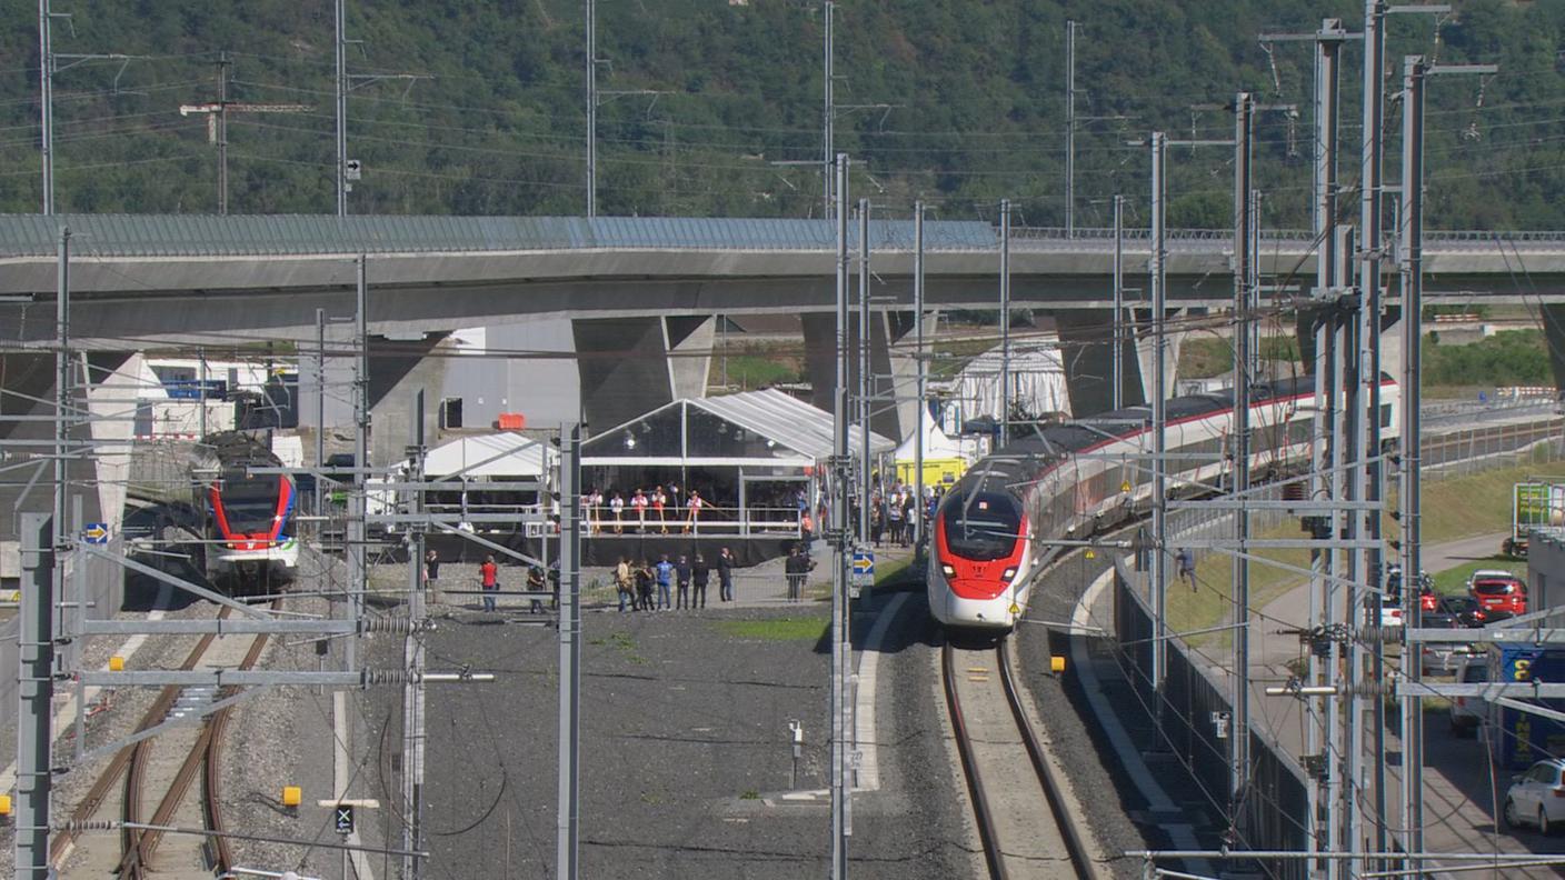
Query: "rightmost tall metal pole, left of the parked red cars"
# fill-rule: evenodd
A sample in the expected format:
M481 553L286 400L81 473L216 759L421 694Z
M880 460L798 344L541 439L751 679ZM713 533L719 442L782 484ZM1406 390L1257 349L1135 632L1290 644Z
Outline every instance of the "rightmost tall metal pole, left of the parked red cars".
M1421 55L1402 60L1402 211L1401 211L1401 269L1402 269L1402 593L1418 595L1416 584L1421 557L1419 523L1419 412L1423 406L1423 355L1418 343L1423 340L1424 307L1424 75L1427 66ZM1416 598L1413 600L1416 608ZM1416 683L1423 678L1418 662L1407 664L1402 675ZM1424 723L1421 705L1413 697L1402 698L1402 803L1407 817L1407 847L1410 852L1424 849ZM1408 860L1410 871L1419 871L1418 860Z

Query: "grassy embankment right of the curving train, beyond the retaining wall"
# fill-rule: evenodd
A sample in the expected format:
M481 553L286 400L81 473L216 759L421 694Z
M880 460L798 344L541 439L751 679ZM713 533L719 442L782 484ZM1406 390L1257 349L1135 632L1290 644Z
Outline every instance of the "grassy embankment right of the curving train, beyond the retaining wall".
M1565 474L1565 462L1549 462L1523 465L1515 468L1491 470L1462 478L1448 478L1424 484L1424 543L1441 543L1460 537L1501 532L1510 528L1510 492L1512 484L1529 476ZM1394 493L1393 493L1394 501ZM1385 518L1387 534L1396 537L1398 525ZM1304 537L1296 521L1283 523L1257 537ZM1498 546L1496 546L1498 550ZM1257 550L1255 556L1274 559L1286 565L1308 568L1310 553L1307 550ZM1513 562L1513 561L1510 561ZM1471 568L1506 567L1496 561L1476 562ZM1466 570L1463 573L1463 568ZM1443 592L1460 590L1471 573L1468 567L1459 567L1443 581L1435 582ZM1194 593L1185 584L1169 587L1169 628L1175 633L1188 633L1218 626L1229 620L1233 609L1233 562L1224 553L1208 551L1199 554L1196 562L1196 578L1200 584ZM1455 578L1455 581L1452 581ZM1305 578L1296 572L1266 565L1261 562L1250 565L1250 608L1261 609L1293 587L1304 584ZM1455 586L1449 586L1449 584ZM1200 634L1189 639L1197 645L1225 645L1227 634Z

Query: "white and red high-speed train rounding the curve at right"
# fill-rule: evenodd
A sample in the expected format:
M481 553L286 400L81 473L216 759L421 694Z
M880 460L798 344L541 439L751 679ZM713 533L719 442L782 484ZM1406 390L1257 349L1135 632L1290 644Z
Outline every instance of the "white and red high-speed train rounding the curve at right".
M1396 384L1382 377L1387 442L1396 438L1399 402ZM1086 539L1149 509L1150 413L1128 407L1044 427L977 462L934 514L925 579L934 619L953 628L1013 628L1027 614L1033 576L1058 554L1060 545L1049 542ZM1172 398L1166 413L1167 453L1227 451L1232 391ZM1315 415L1313 377L1252 388L1254 479L1308 465ZM1229 467L1221 457L1171 457L1166 485L1171 495L1199 495L1189 487L1219 484Z

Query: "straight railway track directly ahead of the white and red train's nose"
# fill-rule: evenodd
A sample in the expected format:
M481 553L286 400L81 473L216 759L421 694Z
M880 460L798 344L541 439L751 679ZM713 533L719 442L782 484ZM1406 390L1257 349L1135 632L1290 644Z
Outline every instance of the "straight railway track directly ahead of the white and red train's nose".
M941 667L989 877L1099 877L1081 819L1066 806L1011 678L1008 640L945 642Z

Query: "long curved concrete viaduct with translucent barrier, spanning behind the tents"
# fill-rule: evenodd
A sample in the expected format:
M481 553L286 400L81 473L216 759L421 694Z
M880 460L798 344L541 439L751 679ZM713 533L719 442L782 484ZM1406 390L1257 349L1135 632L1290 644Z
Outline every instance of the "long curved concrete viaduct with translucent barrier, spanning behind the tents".
M52 393L56 249L70 229L72 344L113 360L167 344L232 346L236 340L313 344L316 308L354 308L354 260L369 279L371 396L377 424L429 384L424 354L451 330L540 318L571 327L588 423L612 426L704 388L715 315L798 313L818 402L829 401L834 349L834 225L808 219L707 218L443 218L443 216L0 216L0 415ZM850 247L856 249L856 229ZM998 232L984 222L930 222L926 305L994 308ZM1020 229L1011 241L1011 299L1052 316L1069 362L1078 413L1106 401L1110 268L1106 230ZM876 373L905 374L912 359L894 343L911 327L912 224L870 225L870 327ZM1524 302L1554 313L1565 302L1565 233L1426 233L1430 302ZM1146 230L1124 244L1127 304L1147 287ZM1232 236L1177 230L1167 240L1169 304L1182 310L1232 302ZM1308 233L1261 241L1261 272L1279 299L1302 298L1315 277ZM856 282L854 282L856 291ZM1560 321L1546 321L1551 337ZM310 340L310 343L307 343ZM1565 337L1552 340L1565 351ZM1142 371L1127 355L1127 374ZM664 362L667 368L648 368ZM1559 374L1560 365L1556 365ZM434 401L429 401L434 407ZM27 412L44 412L27 404ZM407 413L404 413L407 415ZM878 427L900 434L908 413ZM396 421L396 418L390 418ZM6 429L0 429L5 432ZM399 449L402 432L383 432Z

